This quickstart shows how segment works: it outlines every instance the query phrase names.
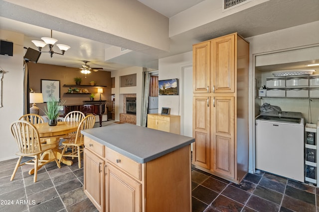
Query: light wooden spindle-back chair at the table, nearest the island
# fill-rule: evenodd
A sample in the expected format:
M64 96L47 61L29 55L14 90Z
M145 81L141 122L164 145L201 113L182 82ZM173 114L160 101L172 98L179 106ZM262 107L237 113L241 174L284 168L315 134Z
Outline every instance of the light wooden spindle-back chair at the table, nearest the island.
M63 157L77 157L79 168L81 168L81 153L83 152L84 148L84 136L81 134L81 130L93 128L94 123L95 116L93 114L85 116L76 130L76 135L74 137L66 138L66 140L62 142L63 150L61 153L61 158L59 159L59 163L61 163ZM76 148L76 150L66 152L67 148L73 149L73 147Z

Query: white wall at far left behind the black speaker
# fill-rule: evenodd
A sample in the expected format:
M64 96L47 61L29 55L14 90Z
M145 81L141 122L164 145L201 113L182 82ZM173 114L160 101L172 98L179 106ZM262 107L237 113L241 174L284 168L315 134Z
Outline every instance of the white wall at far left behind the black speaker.
M10 123L23 114L23 34L0 30L0 39L13 42L13 56L0 55L2 107L0 107L0 161L15 158L18 150Z

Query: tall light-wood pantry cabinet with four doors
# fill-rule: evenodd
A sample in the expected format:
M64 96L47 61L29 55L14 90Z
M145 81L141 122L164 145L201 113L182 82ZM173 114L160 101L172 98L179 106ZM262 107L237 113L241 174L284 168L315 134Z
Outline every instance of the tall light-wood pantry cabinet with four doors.
M193 45L193 164L240 183L248 172L249 43L237 33Z

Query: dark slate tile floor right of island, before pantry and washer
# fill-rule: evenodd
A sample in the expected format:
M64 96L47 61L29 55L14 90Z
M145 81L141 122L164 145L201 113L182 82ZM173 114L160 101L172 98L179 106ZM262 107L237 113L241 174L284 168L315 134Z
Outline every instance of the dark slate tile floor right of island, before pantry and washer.
M268 173L239 184L192 168L193 212L318 212L319 188Z

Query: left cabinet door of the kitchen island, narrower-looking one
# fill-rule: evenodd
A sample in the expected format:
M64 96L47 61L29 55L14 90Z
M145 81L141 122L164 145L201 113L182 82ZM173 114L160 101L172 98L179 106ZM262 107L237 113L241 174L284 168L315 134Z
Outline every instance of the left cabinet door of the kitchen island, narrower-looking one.
M104 212L104 173L105 161L84 148L84 193L99 212Z

